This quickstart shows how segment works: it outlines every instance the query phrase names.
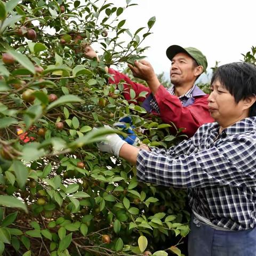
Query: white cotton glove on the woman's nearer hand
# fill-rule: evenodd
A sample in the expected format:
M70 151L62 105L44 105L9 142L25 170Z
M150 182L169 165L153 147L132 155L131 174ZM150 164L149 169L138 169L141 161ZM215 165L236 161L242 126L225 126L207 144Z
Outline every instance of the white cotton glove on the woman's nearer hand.
M108 125L104 126L111 129L111 127ZM109 134L106 135L105 141L97 143L97 147L102 152L107 152L114 154L115 156L119 156L119 151L125 143L127 142L122 140L117 134Z

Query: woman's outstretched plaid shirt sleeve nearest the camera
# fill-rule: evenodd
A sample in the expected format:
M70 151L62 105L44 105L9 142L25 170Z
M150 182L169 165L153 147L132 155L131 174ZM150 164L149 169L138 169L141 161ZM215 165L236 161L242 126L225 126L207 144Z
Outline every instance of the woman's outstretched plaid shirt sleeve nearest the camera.
M140 150L140 181L178 188L207 186L255 187L255 142L252 138L223 141L218 146L179 157Z

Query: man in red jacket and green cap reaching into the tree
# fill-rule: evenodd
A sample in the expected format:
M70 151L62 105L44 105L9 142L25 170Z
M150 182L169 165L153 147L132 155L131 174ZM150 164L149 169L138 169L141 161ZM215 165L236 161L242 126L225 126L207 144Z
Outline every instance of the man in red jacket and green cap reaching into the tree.
M91 46L85 48L85 55L89 58L97 57ZM207 60L203 53L194 47L183 48L179 45L171 45L166 50L167 57L172 61L170 69L171 83L166 89L159 82L153 67L146 60L135 61L134 66L128 65L134 77L145 80L148 87L135 83L118 71L107 68L107 72L113 75L110 83L118 84L125 81L124 90L129 92L132 88L136 97L140 92L148 92L145 98L138 98L142 107L148 112L159 115L163 122L173 122L179 128L185 128L188 137L194 135L199 126L213 122L210 116L207 98L208 95L196 85L196 79L206 70ZM123 93L126 100L131 100L130 93Z

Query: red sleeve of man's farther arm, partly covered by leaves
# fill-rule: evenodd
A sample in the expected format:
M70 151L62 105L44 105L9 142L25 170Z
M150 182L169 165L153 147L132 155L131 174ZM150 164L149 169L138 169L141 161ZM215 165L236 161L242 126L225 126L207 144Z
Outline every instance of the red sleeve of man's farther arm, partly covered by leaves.
M113 75L113 79L109 78L110 84L118 84L118 83L120 83L121 80L124 80L124 82L125 82L124 83L124 92L122 94L126 100L131 100L131 97L130 97L130 89L131 88L135 91L136 98L143 91L148 92L146 97L149 95L149 93L150 93L149 87L147 87L143 84L133 82L128 76L126 76L122 73L119 73L118 71L116 71L112 68L108 69L108 73ZM139 97L137 100L139 102L142 102L145 99L146 98L144 98L144 97ZM135 102L133 102L133 103L135 103Z

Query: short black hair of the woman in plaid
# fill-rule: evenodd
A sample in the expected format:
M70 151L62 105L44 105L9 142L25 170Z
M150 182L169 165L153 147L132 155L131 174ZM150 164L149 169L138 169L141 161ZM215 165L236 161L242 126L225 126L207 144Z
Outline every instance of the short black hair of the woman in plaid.
M256 66L246 62L233 62L217 68L212 76L226 87L235 98L236 103L242 99L256 95ZM250 116L256 116L256 103L250 108Z

